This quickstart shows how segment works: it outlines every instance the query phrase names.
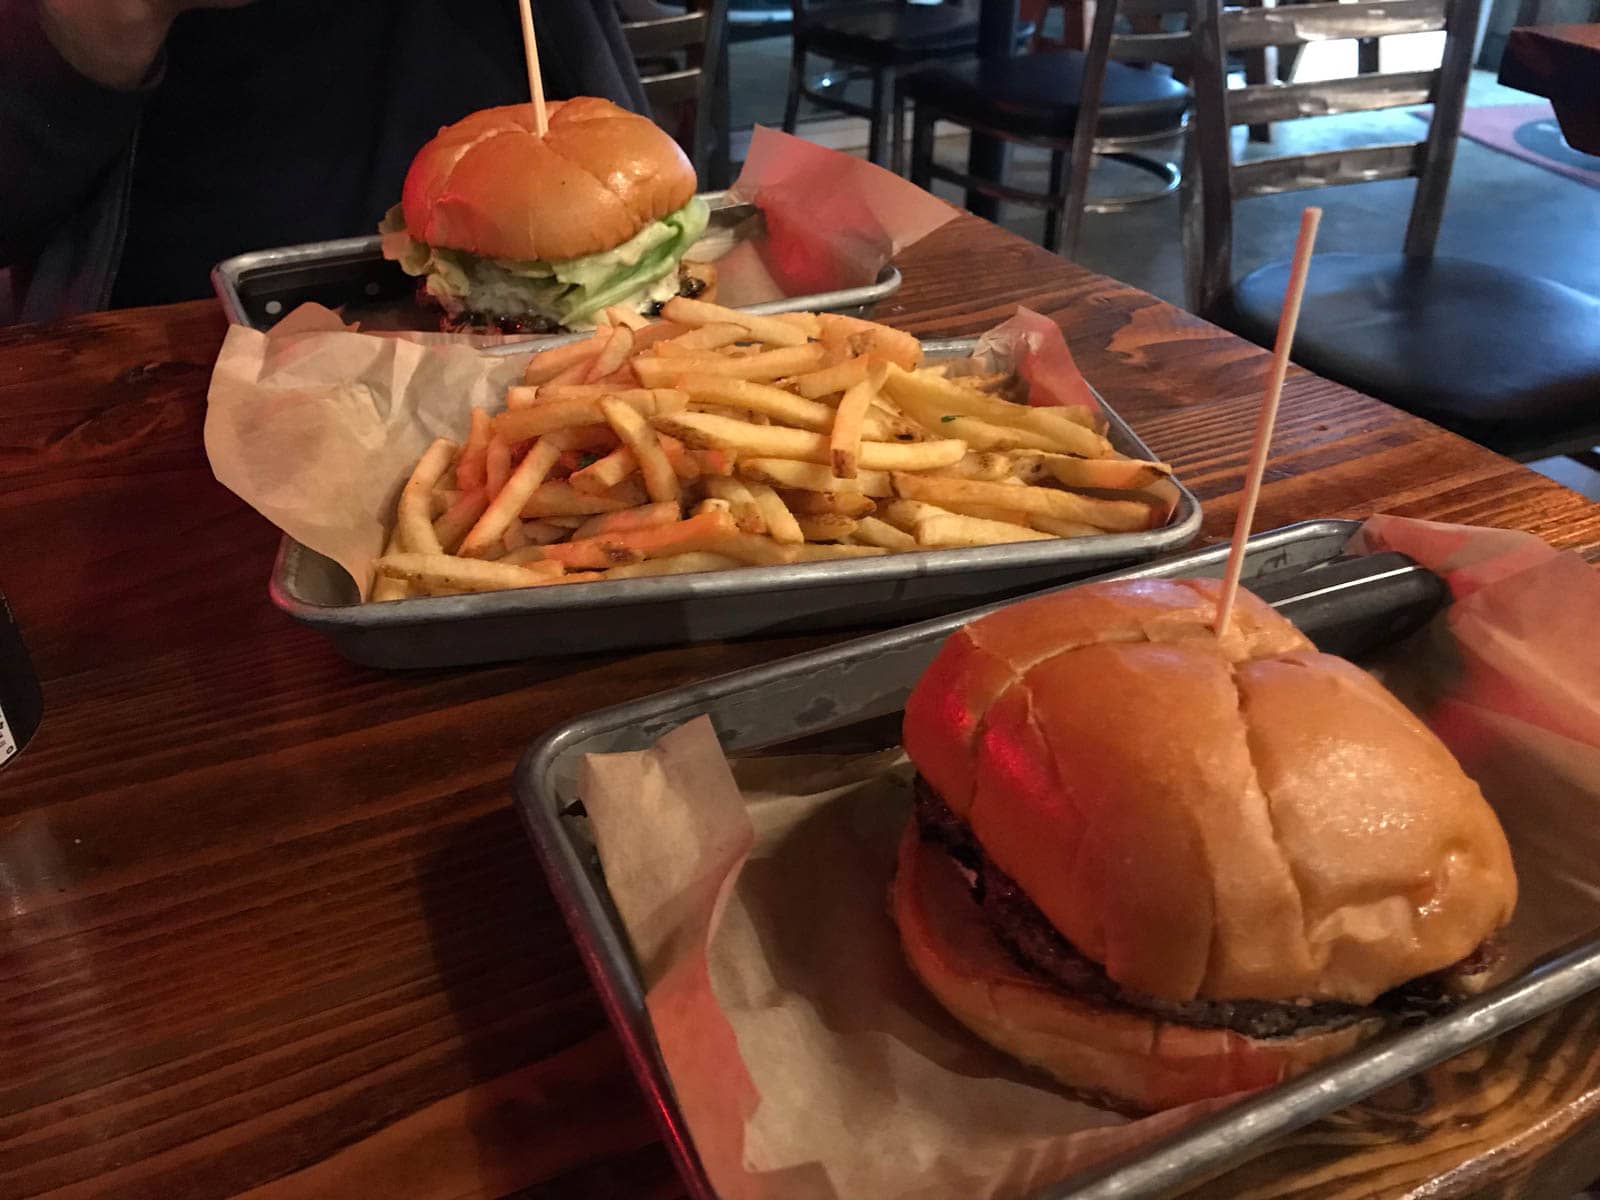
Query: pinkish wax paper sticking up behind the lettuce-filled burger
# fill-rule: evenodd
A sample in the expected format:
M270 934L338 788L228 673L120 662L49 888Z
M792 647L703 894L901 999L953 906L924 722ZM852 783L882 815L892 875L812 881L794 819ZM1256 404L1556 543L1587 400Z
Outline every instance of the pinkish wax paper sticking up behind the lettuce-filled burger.
M955 216L882 166L765 126L730 190L766 218L757 248L787 296L872 283L885 262Z

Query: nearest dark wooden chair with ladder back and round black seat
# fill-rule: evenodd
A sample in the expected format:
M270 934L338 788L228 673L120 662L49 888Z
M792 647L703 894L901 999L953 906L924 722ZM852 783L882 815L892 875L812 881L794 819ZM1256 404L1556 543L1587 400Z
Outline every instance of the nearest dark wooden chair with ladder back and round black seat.
M1254 195L1416 178L1402 253L1317 254L1294 360L1522 459L1600 440L1600 299L1550 280L1435 258L1466 104L1480 0L1197 10L1198 203L1184 213L1190 304L1270 346L1288 261L1232 277L1234 203ZM1230 91L1227 51L1445 30L1435 70ZM1427 138L1235 163L1237 125L1432 102ZM1507 213L1517 221L1517 213Z

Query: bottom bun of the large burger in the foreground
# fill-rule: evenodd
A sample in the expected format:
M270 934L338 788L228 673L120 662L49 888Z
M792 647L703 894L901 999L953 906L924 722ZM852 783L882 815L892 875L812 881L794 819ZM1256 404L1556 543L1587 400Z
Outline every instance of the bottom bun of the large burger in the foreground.
M1382 1030L1374 1019L1251 1038L1157 1021L1051 987L995 941L966 877L918 837L915 821L901 838L890 906L912 971L957 1021L1106 1107L1154 1112L1262 1088Z

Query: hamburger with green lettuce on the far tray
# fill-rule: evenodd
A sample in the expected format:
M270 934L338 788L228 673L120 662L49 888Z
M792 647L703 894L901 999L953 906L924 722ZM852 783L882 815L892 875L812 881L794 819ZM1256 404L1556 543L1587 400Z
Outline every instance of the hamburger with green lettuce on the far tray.
M694 168L654 122L579 98L474 112L418 150L379 224L384 258L443 309L445 328L590 328L613 304L710 299L715 267L683 262L706 230Z

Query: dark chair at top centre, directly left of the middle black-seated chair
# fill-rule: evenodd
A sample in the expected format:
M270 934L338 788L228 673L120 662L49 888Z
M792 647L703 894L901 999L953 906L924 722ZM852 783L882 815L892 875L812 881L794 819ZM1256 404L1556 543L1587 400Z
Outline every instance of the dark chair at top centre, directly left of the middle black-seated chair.
M869 122L867 158L878 166L904 170L901 158L904 109L896 99L896 80L906 70L939 59L970 58L978 50L978 11L968 3L914 5L907 0L790 0L794 6L794 56L784 130L795 131L800 102L862 117ZM1032 26L1018 35L1032 35ZM827 59L845 78L835 88L808 83L808 61ZM872 83L867 104L843 91L851 75Z

